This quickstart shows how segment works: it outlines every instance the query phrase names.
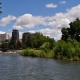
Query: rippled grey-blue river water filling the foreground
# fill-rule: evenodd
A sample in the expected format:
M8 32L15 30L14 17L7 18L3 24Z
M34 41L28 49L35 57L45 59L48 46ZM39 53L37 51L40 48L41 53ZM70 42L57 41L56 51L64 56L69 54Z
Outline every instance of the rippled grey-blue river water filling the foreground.
M80 62L3 53L0 80L80 80Z

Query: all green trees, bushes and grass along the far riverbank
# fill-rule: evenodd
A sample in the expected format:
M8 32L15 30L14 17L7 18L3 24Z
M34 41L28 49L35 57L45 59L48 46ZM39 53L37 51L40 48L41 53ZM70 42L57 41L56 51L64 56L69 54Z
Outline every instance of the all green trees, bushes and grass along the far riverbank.
M25 36L22 37L22 43L11 40L8 44L1 44L1 47L12 50L22 49L20 51L22 56L80 60L80 20L77 18L69 25L69 28L61 29L62 37L58 41L36 32L27 39Z

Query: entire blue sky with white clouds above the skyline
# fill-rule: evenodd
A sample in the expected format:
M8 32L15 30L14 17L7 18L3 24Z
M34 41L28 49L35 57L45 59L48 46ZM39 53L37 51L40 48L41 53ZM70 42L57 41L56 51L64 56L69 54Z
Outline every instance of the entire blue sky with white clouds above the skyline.
M80 0L0 0L0 33L41 32L55 40L61 38L61 29L80 18Z

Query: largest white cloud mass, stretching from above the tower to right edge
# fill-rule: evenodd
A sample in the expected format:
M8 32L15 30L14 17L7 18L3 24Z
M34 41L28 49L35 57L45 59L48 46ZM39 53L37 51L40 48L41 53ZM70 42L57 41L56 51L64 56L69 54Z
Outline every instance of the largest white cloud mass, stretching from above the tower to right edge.
M68 9L65 13L56 13L53 16L33 16L31 14L24 14L17 19L14 25L16 29L33 28L38 25L52 26L53 29L40 29L44 35L52 36L58 40L61 37L61 29L69 27L69 23L76 18L80 18L80 5ZM35 31L31 31L35 32Z

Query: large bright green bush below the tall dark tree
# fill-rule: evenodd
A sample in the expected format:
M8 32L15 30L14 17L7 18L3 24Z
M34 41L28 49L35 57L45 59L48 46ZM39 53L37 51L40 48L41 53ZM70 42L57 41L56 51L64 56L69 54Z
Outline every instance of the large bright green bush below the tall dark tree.
M79 60L80 43L71 38L67 42L60 40L57 42L54 52L56 58Z

